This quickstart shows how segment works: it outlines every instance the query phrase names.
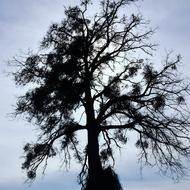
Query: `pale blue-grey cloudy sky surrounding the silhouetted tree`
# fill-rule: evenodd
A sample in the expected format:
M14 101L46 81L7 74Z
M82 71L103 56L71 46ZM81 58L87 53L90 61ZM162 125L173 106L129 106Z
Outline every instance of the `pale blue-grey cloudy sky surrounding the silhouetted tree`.
M80 189L76 182L78 166L70 171L60 168L58 160L51 160L45 176L25 183L21 170L22 147L35 139L36 131L22 119L13 119L16 97L22 91L16 88L7 75L7 61L22 51L36 50L52 22L64 17L64 6L78 0L0 0L0 190ZM97 3L97 0L94 1ZM95 6L96 8L98 7ZM182 55L180 70L184 77L190 75L190 0L139 0L135 6L157 28L152 40L159 44L156 60L161 60L168 50ZM130 9L130 7L129 7ZM127 11L127 9L126 9ZM156 168L145 168L142 173L132 142L117 157L117 173L124 190L177 190L189 189L190 177L179 183L162 177Z

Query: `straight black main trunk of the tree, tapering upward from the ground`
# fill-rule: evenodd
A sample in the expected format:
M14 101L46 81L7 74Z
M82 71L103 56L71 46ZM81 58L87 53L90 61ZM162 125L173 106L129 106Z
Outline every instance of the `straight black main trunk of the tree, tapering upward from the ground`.
M88 64L86 62L86 92L85 92L85 111L87 119L87 129L88 129L88 146L87 146L87 155L88 155L88 178L86 181L85 190L103 190L101 188L101 179L103 177L103 169L99 155L99 142L98 142L98 126L95 120L94 114L94 102L91 95L91 84L90 84L90 75L88 71Z

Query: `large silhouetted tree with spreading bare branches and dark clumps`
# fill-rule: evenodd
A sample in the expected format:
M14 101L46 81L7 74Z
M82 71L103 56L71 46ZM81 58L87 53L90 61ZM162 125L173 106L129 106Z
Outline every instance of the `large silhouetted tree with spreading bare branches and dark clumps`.
M184 174L183 158L190 155L189 87L177 71L180 56L168 54L160 69L146 59L154 51L149 42L154 31L140 15L121 15L134 1L102 0L100 12L90 16L91 3L83 0L50 26L38 53L12 61L16 84L28 87L15 113L41 131L35 143L24 146L22 168L29 179L60 153L66 165L71 155L81 163L83 190L121 190L111 164L113 147L126 144L129 131L138 135L142 162L176 178ZM87 132L83 151L81 130Z

